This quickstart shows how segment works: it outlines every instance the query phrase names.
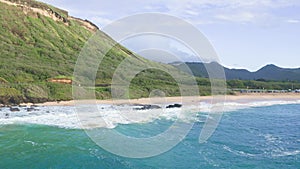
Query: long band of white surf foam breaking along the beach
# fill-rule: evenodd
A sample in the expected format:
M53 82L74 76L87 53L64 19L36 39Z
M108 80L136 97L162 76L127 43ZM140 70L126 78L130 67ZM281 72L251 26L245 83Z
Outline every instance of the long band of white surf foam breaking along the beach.
M84 111L78 111L74 106L45 106L37 107L38 110L27 112L26 108L19 108L19 112L11 112L9 108L1 108L0 125L6 124L42 124L63 128L114 128L118 124L147 123L156 119L176 120L189 122L205 122L212 118L210 113L229 112L239 109L282 105L300 104L297 101L256 101L248 103L225 102L209 104L201 102L199 105L183 105L182 108L136 110L133 105L86 105ZM90 107L96 112L89 112ZM165 105L159 105L165 107ZM77 112L77 113L76 113ZM204 112L204 113L199 113Z

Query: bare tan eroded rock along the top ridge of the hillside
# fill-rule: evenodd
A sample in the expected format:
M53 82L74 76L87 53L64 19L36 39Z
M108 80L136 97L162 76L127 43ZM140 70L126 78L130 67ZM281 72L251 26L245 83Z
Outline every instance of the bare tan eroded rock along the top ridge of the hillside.
M70 20L78 22L85 29L96 32L99 28L88 20L83 20L79 18L75 18L68 15L67 11L57 9L55 7L50 7L46 4L34 1L34 0L0 0L2 3L6 3L8 5L17 6L22 9L22 11L26 15L31 15L35 17L39 17L39 15L43 15L49 17L57 22L62 22L65 25L69 26Z

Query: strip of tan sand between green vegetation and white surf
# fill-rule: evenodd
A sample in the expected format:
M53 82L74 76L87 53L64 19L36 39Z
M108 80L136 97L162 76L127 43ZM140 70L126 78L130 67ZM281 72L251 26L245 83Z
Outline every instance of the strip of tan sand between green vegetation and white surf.
M215 96L216 99L223 102L224 96ZM70 100L60 102L45 102L45 103L24 103L21 105L37 105L37 106L74 106L75 104L107 104L107 105L122 105L122 104L174 104L184 103L192 105L199 102L211 102L212 96L183 96L183 97L164 97L164 98L140 98L140 99L128 99L128 100ZM248 103L254 101L296 101L300 100L299 93L279 93L279 94L237 94L237 95L225 95L224 102L238 102Z

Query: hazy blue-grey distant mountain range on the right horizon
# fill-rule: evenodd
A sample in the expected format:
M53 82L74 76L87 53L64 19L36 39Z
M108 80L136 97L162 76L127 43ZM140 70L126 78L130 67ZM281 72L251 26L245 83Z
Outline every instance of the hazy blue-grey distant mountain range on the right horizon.
M256 72L250 72L246 69L229 69L217 62L211 63L197 63L197 62L187 62L187 63L176 63L173 66L181 69L185 72L192 72L195 76L208 77L206 67L212 67L214 69L224 68L226 78L228 80L240 79L240 80L274 80L274 81L300 81L300 68L289 69L280 68L276 65L266 65ZM190 69L187 70L187 67Z

